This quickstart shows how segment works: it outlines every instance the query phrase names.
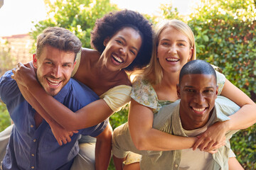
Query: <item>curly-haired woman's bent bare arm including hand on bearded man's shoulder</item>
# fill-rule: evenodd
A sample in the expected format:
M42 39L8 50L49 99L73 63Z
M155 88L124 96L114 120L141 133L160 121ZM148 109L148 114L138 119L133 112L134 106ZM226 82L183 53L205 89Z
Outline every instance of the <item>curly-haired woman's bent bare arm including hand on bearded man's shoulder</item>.
M101 123L113 113L107 103L100 99L81 108L74 114L69 108L46 94L46 91L36 80L33 68L24 67L23 65L20 68L19 71L22 72L17 72L16 81L26 86L43 110L66 130L89 128ZM36 103L31 103L31 106L36 108ZM44 118L45 115L41 116Z

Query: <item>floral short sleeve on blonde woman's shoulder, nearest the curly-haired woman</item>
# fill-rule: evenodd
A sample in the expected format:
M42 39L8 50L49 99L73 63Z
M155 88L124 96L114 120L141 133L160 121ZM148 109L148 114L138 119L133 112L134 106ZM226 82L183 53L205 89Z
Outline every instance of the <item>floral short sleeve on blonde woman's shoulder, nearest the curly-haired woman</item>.
M134 101L142 104L143 106L156 109L158 106L158 99L156 91L153 86L144 79L143 77L138 77L136 81L132 84L132 91L130 95Z

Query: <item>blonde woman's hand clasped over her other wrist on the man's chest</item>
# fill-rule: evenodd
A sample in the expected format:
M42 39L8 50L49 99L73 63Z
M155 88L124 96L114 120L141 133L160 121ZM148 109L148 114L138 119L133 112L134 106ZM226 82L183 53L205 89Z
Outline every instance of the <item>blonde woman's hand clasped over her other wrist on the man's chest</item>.
M225 145L225 133L228 131L225 122L214 123L206 132L199 135L196 144L193 145L193 150L199 148L201 151L209 152L223 147Z

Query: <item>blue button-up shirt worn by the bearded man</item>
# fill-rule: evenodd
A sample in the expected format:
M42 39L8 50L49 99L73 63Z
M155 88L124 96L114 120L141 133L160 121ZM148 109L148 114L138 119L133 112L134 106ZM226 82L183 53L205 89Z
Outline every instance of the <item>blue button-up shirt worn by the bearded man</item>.
M4 169L70 169L78 154L78 140L81 135L96 137L107 126L108 120L91 128L79 130L66 145L58 145L57 140L45 120L36 128L36 111L23 98L12 72L6 72L0 79L1 100L14 121L9 145L3 160ZM78 111L98 96L84 84L70 79L54 98L71 111Z

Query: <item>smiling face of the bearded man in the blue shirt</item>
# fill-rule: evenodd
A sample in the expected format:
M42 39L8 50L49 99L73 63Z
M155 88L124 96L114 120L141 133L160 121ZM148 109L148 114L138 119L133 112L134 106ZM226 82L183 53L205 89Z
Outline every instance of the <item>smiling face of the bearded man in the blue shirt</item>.
M46 45L40 57L33 55L36 76L43 89L55 96L68 83L75 66L75 53L58 50Z

